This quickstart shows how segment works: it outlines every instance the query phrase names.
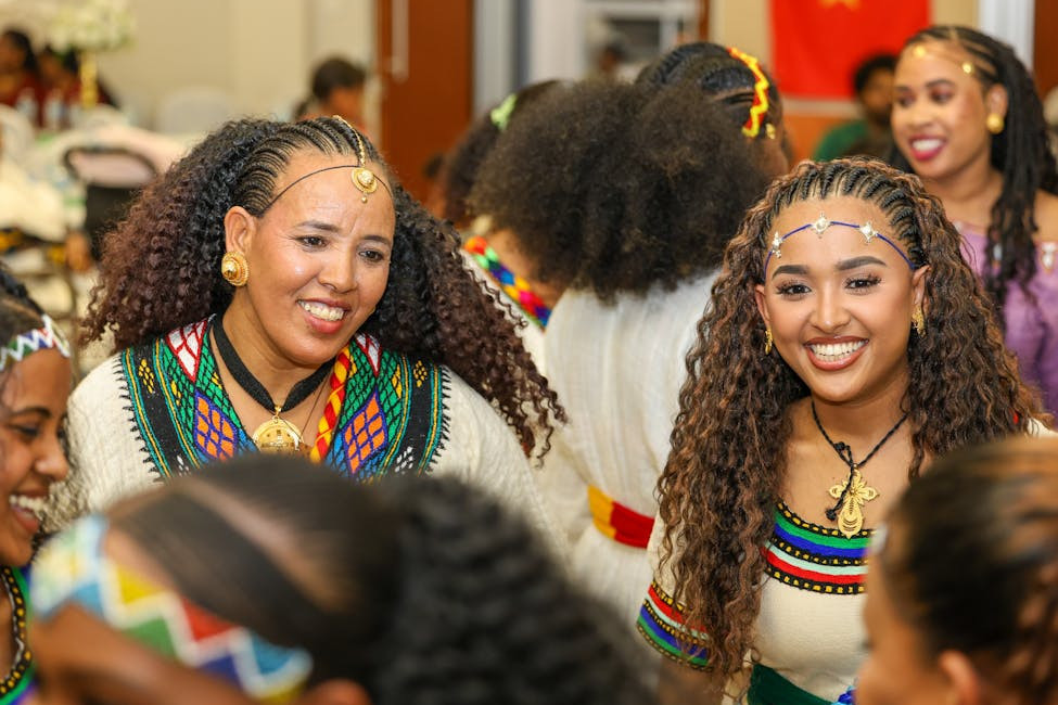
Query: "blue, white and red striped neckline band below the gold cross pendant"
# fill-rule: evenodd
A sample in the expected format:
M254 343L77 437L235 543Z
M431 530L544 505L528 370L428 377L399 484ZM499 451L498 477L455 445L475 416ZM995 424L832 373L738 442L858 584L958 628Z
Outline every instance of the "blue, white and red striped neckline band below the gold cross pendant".
M841 531L805 522L779 503L775 529L764 549L769 576L802 590L859 594L867 576L870 529L851 538Z

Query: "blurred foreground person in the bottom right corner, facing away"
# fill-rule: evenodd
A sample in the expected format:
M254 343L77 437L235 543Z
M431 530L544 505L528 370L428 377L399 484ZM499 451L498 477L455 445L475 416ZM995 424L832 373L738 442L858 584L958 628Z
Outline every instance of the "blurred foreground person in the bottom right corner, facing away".
M1058 438L939 460L871 551L857 704L1058 702Z

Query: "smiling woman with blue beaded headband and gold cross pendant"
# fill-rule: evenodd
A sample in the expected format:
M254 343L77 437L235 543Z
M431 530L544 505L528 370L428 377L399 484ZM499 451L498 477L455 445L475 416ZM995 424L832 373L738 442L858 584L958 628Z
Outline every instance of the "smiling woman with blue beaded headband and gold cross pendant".
M929 459L1048 421L958 232L916 177L802 164L728 245L688 371L639 617L666 700L849 702L871 527Z

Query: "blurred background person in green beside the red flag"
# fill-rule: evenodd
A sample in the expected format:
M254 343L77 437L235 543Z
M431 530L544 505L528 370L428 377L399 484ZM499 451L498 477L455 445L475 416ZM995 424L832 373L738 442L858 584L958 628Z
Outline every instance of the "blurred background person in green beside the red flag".
M893 144L889 116L893 108L893 70L896 56L877 54L856 67L852 85L862 117L839 125L819 140L812 158L817 162L840 156L884 157Z

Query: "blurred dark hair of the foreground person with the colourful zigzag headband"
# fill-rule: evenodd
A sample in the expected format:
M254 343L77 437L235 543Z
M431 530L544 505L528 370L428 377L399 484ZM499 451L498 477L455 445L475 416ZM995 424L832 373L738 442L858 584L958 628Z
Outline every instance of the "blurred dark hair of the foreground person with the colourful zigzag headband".
M455 479L353 485L248 456L110 514L184 598L307 650L309 687L354 680L379 705L651 700L532 530Z

